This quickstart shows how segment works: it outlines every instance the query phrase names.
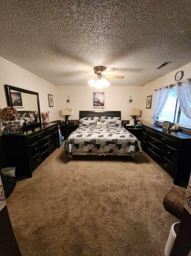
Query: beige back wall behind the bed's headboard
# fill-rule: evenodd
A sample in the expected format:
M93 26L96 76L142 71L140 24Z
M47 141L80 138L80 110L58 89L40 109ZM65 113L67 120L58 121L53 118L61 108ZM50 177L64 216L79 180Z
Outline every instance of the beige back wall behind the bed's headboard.
M104 89L95 89L89 85L85 86L59 86L58 102L59 116L62 108L72 108L72 115L69 119L79 119L79 110L93 109L93 92L105 93L105 109L108 111L121 111L123 120L129 120L129 109L140 108L141 93L140 86L110 86ZM70 104L66 103L67 96L70 96ZM129 96L132 96L133 102L128 104ZM100 111L104 111L100 110Z

